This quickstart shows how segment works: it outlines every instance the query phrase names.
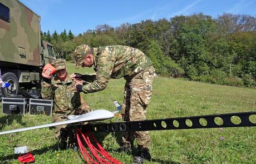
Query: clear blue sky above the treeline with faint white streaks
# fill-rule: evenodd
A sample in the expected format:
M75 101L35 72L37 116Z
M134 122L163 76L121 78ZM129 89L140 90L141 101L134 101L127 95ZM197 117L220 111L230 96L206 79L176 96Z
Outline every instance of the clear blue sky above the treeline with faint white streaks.
M99 24L112 27L141 20L170 19L203 12L216 18L225 13L256 16L256 0L20 0L41 16L41 30L73 34L95 29Z

